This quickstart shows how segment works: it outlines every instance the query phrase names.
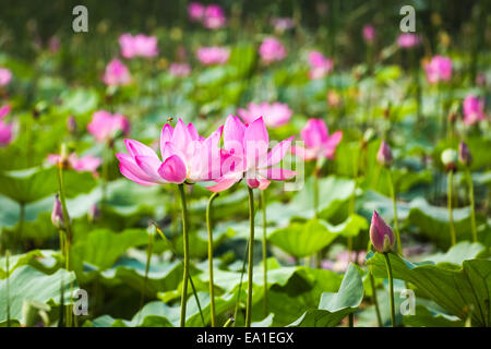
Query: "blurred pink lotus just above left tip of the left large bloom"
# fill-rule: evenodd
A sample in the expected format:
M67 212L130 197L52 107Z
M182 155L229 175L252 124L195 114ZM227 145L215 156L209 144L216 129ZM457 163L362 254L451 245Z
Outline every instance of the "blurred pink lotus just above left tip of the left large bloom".
M87 130L97 142L106 142L117 135L118 132L128 134L130 132L130 121L122 115L111 115L106 110L99 110L93 113Z

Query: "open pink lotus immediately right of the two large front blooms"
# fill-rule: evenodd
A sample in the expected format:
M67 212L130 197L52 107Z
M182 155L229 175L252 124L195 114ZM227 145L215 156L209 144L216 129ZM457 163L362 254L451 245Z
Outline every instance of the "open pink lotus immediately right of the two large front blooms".
M325 122L320 119L309 119L300 134L306 143L306 147L294 146L291 147L291 153L304 160L322 157L332 159L337 145L343 139L342 131L336 131L330 135Z

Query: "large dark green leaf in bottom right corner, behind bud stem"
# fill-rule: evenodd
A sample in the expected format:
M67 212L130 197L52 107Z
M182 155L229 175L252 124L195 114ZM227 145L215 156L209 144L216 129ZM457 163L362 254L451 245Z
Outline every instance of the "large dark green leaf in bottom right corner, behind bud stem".
M412 264L390 254L394 278L416 286L417 293L442 306L459 318L472 318L472 325L490 324L491 261L464 261L460 268L448 263ZM387 277L385 261L380 253L370 253L367 263L375 277Z

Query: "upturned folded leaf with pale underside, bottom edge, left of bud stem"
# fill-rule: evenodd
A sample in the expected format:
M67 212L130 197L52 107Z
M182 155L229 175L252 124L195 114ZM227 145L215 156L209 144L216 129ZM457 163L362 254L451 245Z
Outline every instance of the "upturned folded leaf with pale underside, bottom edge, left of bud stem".
M350 264L337 292L322 293L319 309L308 310L290 327L334 327L355 312L363 300L363 284L359 269Z

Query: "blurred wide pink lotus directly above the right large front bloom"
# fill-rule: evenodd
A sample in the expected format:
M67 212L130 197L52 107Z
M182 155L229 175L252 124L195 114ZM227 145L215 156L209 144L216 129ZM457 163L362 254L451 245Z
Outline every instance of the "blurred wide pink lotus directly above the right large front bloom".
M266 127L277 128L287 123L294 111L288 108L287 104L264 101L261 104L250 103L247 109L239 108L238 113L246 123L252 123L255 119L263 117Z

